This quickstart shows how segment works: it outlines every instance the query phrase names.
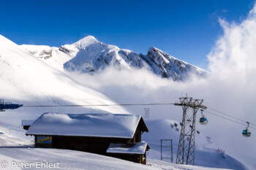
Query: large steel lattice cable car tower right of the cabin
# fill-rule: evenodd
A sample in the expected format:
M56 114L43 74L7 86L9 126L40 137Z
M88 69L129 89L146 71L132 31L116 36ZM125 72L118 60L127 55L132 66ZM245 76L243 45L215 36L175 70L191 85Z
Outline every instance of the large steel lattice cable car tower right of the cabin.
M195 118L198 109L207 109L203 106L203 99L192 99L188 97L179 98L180 102L174 105L181 106L183 117L181 123L181 135L178 143L176 163L194 165L195 163ZM188 112L189 109L192 112Z

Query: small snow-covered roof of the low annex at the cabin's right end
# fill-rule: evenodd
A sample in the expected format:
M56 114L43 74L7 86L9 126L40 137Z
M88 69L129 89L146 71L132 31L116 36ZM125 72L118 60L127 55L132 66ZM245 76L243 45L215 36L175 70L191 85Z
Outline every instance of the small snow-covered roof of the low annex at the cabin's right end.
M149 149L148 143L137 142L137 143L110 143L107 152L108 153L129 153L129 154L144 154L146 149Z

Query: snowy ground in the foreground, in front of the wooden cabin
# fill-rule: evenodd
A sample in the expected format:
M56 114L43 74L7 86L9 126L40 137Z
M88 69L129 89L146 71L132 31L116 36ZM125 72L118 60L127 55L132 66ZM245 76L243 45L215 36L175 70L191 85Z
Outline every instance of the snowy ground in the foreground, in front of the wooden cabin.
M0 169L213 169L153 159L148 159L144 166L88 152L34 148L25 139L3 133L0 134L0 148Z

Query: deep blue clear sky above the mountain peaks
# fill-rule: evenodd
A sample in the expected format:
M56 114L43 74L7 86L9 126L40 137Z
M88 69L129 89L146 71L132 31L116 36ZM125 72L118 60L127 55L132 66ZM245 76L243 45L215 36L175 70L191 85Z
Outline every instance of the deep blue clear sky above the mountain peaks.
M222 35L218 19L240 22L255 1L0 1L0 34L18 45L72 44L87 35L146 54L157 47L207 68Z

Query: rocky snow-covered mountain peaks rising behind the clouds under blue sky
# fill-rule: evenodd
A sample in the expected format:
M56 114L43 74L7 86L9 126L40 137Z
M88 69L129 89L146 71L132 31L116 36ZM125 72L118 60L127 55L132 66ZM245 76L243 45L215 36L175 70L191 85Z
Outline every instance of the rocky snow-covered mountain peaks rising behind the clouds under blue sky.
M205 70L173 58L156 47L149 48L146 55L136 54L114 45L105 45L94 36L86 36L72 45L62 45L59 47L59 52L56 51L56 47L38 46L37 48L33 45L21 45L20 47L51 66L58 65L59 67L62 63L64 69L68 71L92 74L110 66L128 70L144 68L161 77L170 77L173 80L187 80L191 74L200 77L206 77L208 74Z

